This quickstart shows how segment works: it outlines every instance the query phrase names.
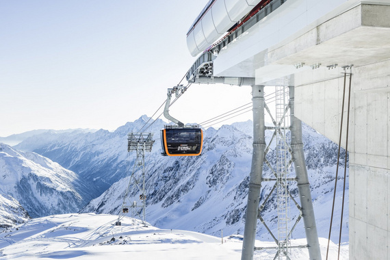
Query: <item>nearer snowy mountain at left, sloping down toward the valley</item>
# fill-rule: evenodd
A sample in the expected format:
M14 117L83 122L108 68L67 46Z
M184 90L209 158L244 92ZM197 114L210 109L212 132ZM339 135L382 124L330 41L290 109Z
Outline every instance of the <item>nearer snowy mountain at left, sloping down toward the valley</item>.
M90 198L75 172L42 155L17 151L1 143L0 179L0 194L15 199L5 196L12 201L11 207L17 207L17 200L33 218L78 211L88 202L84 198Z

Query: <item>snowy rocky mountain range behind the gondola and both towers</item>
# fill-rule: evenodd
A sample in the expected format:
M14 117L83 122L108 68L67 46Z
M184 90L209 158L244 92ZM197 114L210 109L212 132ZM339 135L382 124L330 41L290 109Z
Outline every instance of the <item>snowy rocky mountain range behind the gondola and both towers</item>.
M135 122L116 129L114 132L99 130L79 135L53 135L51 142L36 138L25 140L17 147L28 148L40 153L65 168L73 170L81 179L89 181L90 194L95 197L83 212L113 213L120 211L122 197L129 183L135 155L127 153L127 133L138 132L149 118L142 116ZM159 228L185 229L211 235L218 235L223 229L226 234L243 233L248 175L252 158L252 122L224 125L220 129L205 131L203 153L199 157L162 157L159 130L164 127L157 120L147 131L154 133L155 144L146 154L146 219ZM311 181L313 204L320 237L328 236L329 218L333 200L337 145L319 133L304 126L304 151ZM266 132L267 140L272 136ZM42 140L45 137L42 136ZM274 161L274 146L267 155ZM341 156L343 158L343 156ZM343 161L341 161L343 166ZM265 166L264 177L272 177ZM140 177L140 172L135 172ZM291 169L291 177L294 170ZM268 196L273 182L263 183L261 199ZM336 207L341 205L341 185L337 186ZM97 190L94 190L96 188ZM346 187L348 189L348 186ZM108 189L108 190L107 190ZM290 185L291 194L299 203L295 183ZM104 192L104 193L103 193ZM348 194L348 192L347 192ZM140 191L131 188L131 198L138 200ZM276 232L276 203L272 196L265 205L263 218L272 231ZM348 205L348 198L346 198ZM340 215L335 209L335 219ZM348 241L348 207L344 210L343 242ZM291 202L291 219L297 218L298 210ZM334 223L337 221L335 220ZM294 237L304 237L302 221ZM337 224L335 224L337 228ZM257 237L271 240L265 228L259 224ZM333 232L335 237L337 232ZM335 239L336 240L336 239Z

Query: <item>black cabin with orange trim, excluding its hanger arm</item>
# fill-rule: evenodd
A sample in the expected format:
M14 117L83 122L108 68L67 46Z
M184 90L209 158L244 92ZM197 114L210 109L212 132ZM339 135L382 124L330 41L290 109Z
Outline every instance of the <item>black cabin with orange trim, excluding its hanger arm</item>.
M162 155L196 156L202 153L203 131L197 126L172 127L161 130Z

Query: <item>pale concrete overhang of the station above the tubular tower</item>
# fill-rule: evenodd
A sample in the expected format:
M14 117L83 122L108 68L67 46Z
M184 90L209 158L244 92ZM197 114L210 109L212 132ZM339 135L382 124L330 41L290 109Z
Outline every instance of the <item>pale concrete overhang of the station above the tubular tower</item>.
M389 5L360 4L306 34L269 51L268 64L257 68L256 83L285 77L315 64L363 66L390 59ZM304 64L296 70L295 64ZM278 71L270 74L270 68ZM295 70L295 71L294 71ZM295 85L300 84L295 82Z

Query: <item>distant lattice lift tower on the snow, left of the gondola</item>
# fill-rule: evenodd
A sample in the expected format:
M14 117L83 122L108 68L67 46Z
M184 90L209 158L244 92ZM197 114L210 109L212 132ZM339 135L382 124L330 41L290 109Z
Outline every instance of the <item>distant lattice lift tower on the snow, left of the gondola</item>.
M129 133L127 138L127 151L136 151L137 157L134 162L133 172L131 173L131 177L129 180L129 185L127 185L127 190L125 192L125 196L123 197L122 209L118 215L118 221L115 223L116 226L120 226L122 224L122 218L129 213L129 210L132 212L132 217L134 217L134 213L137 214L140 218L142 218L142 224L146 226L145 213L146 213L146 192L145 192L145 152L151 152L153 147L153 133ZM141 172L141 175L135 176L135 172ZM131 193L130 189L133 185L138 187L140 190L140 198L141 206L138 206L137 200L138 198L133 198L131 200L129 194ZM138 212L138 208L142 208L142 217Z

